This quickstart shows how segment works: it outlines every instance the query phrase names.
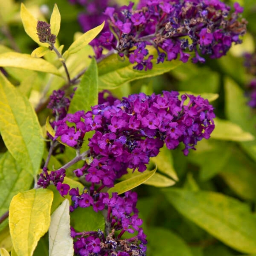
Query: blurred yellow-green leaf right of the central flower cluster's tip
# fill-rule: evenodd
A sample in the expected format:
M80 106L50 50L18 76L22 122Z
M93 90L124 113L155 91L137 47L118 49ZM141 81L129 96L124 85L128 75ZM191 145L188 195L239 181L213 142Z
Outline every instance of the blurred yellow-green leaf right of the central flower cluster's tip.
M219 140L232 141L250 141L254 140L254 136L249 132L245 132L237 124L233 124L227 120L214 118L215 128L211 134L211 138Z

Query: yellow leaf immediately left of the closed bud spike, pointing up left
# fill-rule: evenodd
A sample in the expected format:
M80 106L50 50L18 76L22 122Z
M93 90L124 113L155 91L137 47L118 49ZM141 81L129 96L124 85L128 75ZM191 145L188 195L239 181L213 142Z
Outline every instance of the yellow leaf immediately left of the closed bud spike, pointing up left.
M39 45L48 47L49 44L41 43L37 35L37 19L27 10L25 5L20 5L20 17L26 33Z

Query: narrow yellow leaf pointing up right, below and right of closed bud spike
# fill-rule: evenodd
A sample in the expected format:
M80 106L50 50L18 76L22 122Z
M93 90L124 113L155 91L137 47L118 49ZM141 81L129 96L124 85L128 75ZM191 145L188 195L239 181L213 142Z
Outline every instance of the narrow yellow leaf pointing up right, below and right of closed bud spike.
M104 27L104 24L105 22L95 27L94 29L87 31L78 39L76 39L75 42L73 42L66 50L66 52L63 54L64 59L66 59L70 54L76 53L82 48L84 48L86 45L88 45L101 32L101 30Z

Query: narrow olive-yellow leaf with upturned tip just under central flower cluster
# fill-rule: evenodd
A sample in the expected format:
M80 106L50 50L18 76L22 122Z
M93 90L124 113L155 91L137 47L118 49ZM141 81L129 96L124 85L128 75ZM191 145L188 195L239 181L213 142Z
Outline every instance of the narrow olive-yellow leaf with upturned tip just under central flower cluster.
M144 171L142 174L132 176L131 178L128 178L127 180L118 182L114 185L113 188L110 188L108 190L108 193L111 194L113 192L117 192L118 195L122 194L126 191L129 191L133 188L138 187L140 184L143 184L145 181L147 181L150 177L152 177L155 174L155 171L157 170L157 166L155 166L155 169L152 171Z

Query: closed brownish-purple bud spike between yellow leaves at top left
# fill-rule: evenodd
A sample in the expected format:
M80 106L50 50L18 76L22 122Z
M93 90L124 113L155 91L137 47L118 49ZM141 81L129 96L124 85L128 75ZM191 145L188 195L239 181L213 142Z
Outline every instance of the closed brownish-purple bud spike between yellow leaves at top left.
M56 35L51 33L50 24L45 21L38 20L37 22L37 35L41 43L50 44L50 49L56 42Z

